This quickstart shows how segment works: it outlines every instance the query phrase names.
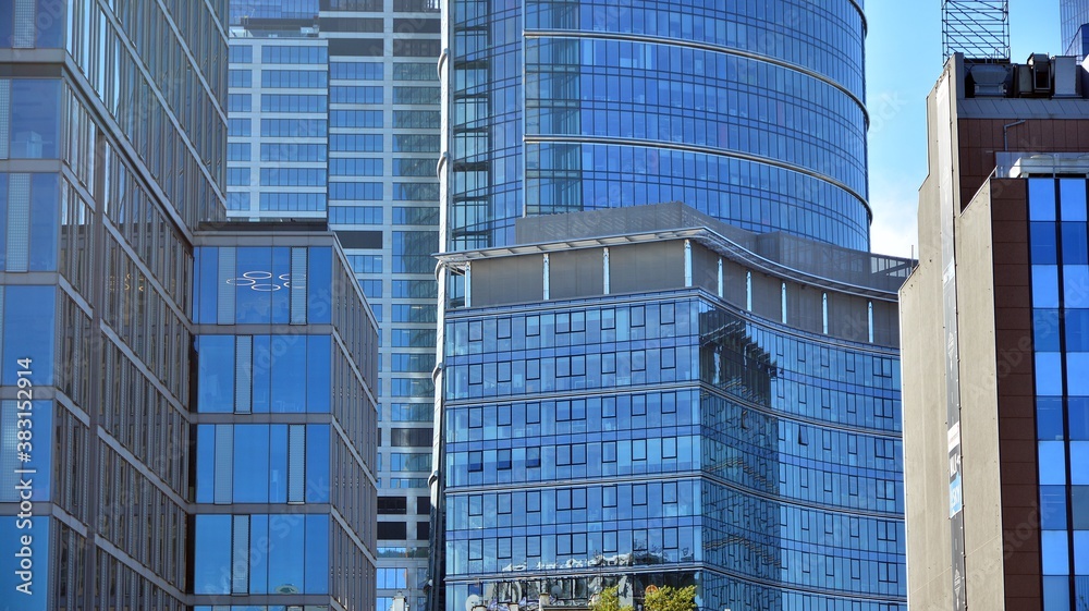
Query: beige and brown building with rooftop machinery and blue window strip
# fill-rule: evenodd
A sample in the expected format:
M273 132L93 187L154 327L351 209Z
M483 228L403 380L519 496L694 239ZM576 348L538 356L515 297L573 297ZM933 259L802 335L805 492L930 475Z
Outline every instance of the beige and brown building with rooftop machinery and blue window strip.
M1074 58L957 54L928 99L901 292L913 609L1089 600L1084 77Z

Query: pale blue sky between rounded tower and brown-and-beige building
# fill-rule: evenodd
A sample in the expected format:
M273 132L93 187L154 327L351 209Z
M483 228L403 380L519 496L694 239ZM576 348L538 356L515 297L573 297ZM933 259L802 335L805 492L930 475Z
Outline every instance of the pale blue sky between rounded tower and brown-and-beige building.
M1014 61L1061 52L1059 0L1010 4ZM927 95L942 70L941 1L869 0L866 16L871 249L907 257L918 244L918 191L927 178Z

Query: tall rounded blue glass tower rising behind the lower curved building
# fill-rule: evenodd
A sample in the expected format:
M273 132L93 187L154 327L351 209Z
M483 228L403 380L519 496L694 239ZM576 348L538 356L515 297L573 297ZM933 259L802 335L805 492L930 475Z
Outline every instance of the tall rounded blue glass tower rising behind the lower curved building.
M451 2L448 247L677 200L868 249L860 3L627 4Z

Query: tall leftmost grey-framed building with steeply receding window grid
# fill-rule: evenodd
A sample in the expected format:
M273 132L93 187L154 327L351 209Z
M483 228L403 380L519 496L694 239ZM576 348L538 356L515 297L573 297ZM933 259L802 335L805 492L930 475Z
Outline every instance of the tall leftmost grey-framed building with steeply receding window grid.
M187 603L192 244L222 215L225 10L0 10L0 607Z

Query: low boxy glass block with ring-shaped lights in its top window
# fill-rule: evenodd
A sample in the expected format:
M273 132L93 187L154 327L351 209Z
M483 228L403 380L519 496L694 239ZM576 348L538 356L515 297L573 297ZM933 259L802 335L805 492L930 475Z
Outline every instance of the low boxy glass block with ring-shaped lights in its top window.
M262 595L360 609L378 329L325 223L235 227L197 234L194 253L196 609Z

